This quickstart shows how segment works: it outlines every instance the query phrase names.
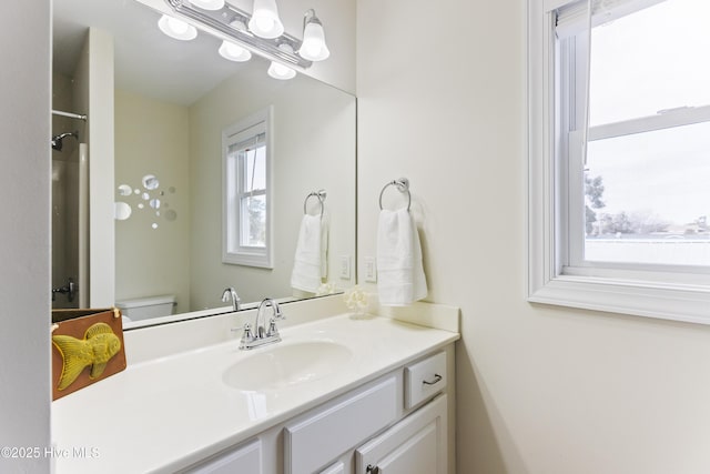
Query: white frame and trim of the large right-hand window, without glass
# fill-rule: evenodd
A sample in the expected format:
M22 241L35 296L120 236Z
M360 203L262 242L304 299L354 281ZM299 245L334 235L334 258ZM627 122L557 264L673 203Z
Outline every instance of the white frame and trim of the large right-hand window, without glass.
M555 10L566 3L528 0L528 301L710 324L710 279L703 272L568 265L565 224L571 204L561 152L577 144L557 132L560 79L555 68L561 57ZM589 137L596 133L606 132L598 128Z

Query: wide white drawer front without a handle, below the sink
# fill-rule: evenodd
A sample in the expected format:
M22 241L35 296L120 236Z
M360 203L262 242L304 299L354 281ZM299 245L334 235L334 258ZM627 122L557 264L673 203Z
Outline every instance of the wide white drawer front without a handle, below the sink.
M397 377L392 376L331 409L286 426L285 473L311 474L322 468L393 423L399 412Z

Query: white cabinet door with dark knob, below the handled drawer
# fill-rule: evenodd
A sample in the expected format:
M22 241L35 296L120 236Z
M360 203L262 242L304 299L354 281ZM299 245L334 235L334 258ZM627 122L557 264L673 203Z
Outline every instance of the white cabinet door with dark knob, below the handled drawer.
M446 394L355 452L357 474L446 474Z

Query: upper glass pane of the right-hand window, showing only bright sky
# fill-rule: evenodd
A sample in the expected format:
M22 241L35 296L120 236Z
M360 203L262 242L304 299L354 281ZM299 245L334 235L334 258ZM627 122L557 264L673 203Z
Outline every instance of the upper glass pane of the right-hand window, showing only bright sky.
M710 104L710 1L667 0L592 29L591 125Z

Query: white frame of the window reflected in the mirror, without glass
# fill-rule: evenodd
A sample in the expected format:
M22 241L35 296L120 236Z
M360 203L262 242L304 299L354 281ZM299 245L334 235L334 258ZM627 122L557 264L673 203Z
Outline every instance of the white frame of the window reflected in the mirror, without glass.
M222 262L236 265L274 268L273 245L273 111L272 107L261 110L222 131ZM239 174L230 172L233 165L230 147L263 135L266 147L266 238L265 246L241 245L242 206L239 195Z

